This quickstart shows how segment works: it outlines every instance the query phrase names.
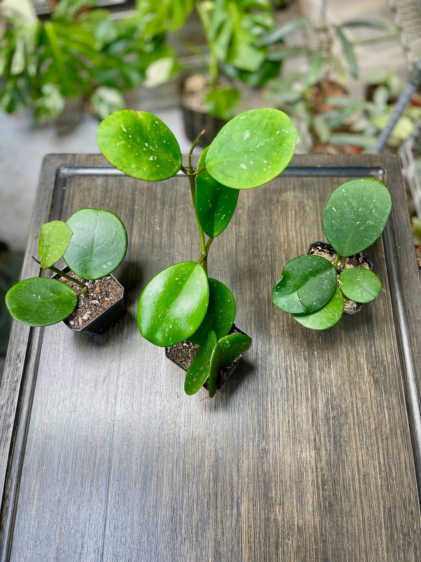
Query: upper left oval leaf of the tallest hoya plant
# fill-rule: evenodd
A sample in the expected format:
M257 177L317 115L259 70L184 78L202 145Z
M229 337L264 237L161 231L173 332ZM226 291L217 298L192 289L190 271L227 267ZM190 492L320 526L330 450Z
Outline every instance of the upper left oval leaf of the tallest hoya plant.
M97 141L107 160L134 178L159 182L181 167L175 136L161 119L146 111L112 113L100 123Z

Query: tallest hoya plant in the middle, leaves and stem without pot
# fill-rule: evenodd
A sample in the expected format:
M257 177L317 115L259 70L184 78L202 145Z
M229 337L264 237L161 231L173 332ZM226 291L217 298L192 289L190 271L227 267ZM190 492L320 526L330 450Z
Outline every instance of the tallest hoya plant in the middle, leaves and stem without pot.
M224 126L193 169L191 155L199 138L185 168L170 129L147 112L118 111L102 121L97 133L103 155L130 176L158 182L181 170L189 178L200 255L197 261L184 261L155 275L141 293L137 318L142 336L157 346L185 340L199 344L184 388L193 395L208 380L212 397L219 370L241 356L251 338L230 333L235 300L225 285L208 279L209 248L230 222L239 190L269 182L289 164L296 130L282 111L246 111Z

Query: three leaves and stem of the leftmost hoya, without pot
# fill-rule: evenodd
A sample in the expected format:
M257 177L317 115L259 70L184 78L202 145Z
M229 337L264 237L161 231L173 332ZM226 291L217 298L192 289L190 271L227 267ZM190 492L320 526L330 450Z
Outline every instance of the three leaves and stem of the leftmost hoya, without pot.
M73 273L90 281L112 273L121 264L126 250L126 229L117 215L99 209L81 209L67 223L53 220L41 226L40 260L34 260L43 269L76 283L82 294L86 294L88 283L63 273L54 264L63 258ZM69 285L49 277L24 279L6 293L10 314L29 326L57 324L71 314L77 299L76 291Z

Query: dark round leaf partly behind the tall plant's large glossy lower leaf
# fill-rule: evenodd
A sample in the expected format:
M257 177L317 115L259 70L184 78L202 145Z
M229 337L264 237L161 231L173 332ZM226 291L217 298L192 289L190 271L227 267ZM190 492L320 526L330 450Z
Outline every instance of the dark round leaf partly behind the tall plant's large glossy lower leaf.
M226 336L235 320L235 300L230 289L217 279L208 278L208 282L208 311L198 330L189 337L190 342L199 345L204 343L209 330L213 330L218 339Z

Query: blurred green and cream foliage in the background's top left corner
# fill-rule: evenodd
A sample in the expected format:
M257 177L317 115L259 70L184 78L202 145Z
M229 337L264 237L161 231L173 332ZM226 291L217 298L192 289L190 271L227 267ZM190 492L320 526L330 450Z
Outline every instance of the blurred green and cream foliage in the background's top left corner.
M167 13L140 2L133 17L113 21L107 10L90 10L92 4L62 0L45 22L33 10L3 14L3 110L33 107L36 119L44 121L61 114L66 98L83 96L103 118L125 106L125 90L143 83L153 87L177 74L180 66L164 31L184 16L169 21Z

